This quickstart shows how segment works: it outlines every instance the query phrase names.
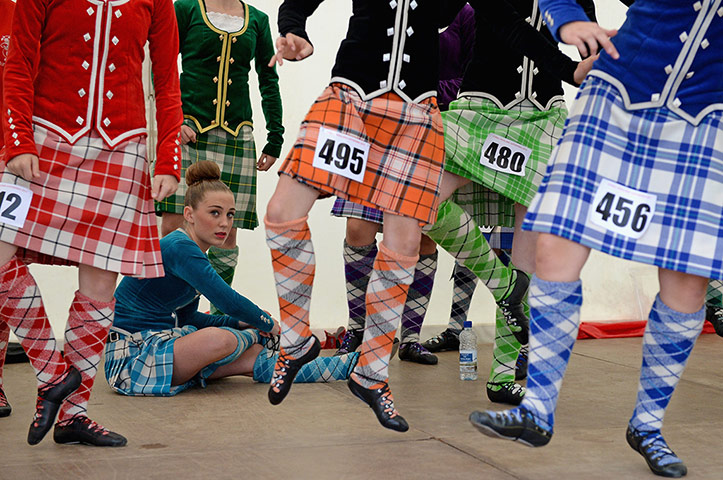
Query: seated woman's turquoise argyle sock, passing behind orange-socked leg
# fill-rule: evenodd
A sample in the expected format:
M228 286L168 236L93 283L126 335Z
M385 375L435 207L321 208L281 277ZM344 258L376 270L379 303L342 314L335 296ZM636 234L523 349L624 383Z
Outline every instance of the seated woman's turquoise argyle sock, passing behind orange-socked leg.
M260 383L271 382L278 352L267 348L261 350L254 363L254 380ZM327 383L335 380L347 380L359 360L359 352L345 353L333 357L316 357L299 370L294 383Z

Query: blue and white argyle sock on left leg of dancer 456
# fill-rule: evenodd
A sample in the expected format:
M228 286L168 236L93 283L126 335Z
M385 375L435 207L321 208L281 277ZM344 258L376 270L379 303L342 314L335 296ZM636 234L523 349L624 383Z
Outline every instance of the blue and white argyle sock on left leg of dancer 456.
M530 282L530 356L520 405L552 432L557 397L580 327L582 282Z

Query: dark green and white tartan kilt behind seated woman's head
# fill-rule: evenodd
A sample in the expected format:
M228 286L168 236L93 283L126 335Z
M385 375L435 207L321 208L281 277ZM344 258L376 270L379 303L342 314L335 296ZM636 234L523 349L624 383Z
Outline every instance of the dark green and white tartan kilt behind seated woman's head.
M194 131L196 126L190 120L185 125ZM256 215L256 143L253 128L244 126L233 137L221 128L205 133L196 133L196 143L188 143L181 150L181 181L176 193L162 202L156 202L156 214L183 213L183 198L186 195L186 169L200 160L211 160L221 168L221 181L228 185L236 197L235 228L253 230L259 224Z

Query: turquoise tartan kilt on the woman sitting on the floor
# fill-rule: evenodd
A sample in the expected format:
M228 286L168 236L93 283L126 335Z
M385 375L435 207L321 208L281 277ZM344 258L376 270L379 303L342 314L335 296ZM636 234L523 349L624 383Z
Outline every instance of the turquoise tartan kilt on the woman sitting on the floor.
M130 396L176 395L194 385L194 378L171 386L173 343L197 330L192 325L170 330L144 330L116 338L115 330L105 344L105 378L116 393Z

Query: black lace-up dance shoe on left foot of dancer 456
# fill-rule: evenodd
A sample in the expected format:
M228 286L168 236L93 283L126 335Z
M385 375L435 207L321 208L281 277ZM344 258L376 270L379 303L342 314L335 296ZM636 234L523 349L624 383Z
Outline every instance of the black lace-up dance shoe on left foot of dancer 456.
M522 407L501 412L474 411L469 421L488 437L513 440L528 447L542 447L552 438L552 432L537 425L534 416Z

